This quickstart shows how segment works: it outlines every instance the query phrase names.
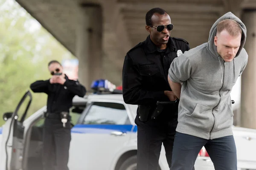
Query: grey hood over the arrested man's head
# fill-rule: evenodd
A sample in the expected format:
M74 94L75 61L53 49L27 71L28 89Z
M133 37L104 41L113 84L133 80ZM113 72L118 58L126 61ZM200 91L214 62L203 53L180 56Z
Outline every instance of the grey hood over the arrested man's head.
M244 43L246 40L246 27L245 27L244 23L242 23L242 21L238 17L236 17L236 15L234 15L232 12L227 12L226 14L221 16L218 20L216 20L216 22L212 25L212 28L209 33L208 47L209 47L209 50L213 54L218 55L217 47L214 44L214 37L216 36L216 28L217 28L218 23L221 22L222 20L226 20L226 19L235 20L237 23L240 24L241 29L242 29L241 45L240 45L239 50L237 51L237 54L236 54L236 57L237 57L240 54L242 48L244 47Z

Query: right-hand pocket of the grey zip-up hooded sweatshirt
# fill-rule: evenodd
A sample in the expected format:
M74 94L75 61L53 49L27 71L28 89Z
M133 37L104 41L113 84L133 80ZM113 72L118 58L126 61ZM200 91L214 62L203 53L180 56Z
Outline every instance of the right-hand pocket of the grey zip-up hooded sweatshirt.
M222 130L229 128L233 125L233 111L230 108L230 105L224 104L221 105L219 111L215 113L216 116L216 125L214 131Z

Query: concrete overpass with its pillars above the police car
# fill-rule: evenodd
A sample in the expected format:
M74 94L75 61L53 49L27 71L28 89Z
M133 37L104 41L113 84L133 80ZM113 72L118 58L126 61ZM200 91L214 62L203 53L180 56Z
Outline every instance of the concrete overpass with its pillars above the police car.
M16 0L79 59L79 80L122 82L126 52L145 40L145 14L165 9L174 24L172 37L193 48L207 42L212 24L227 11L247 26L249 62L242 76L241 125L256 129L256 0ZM237 118L240 124L240 117Z

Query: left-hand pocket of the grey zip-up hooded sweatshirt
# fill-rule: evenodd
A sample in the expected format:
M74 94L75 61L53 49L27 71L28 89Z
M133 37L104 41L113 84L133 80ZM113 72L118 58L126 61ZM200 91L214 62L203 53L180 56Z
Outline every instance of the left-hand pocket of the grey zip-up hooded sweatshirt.
M197 104L192 114L185 114L185 124L209 131L213 124L212 108Z

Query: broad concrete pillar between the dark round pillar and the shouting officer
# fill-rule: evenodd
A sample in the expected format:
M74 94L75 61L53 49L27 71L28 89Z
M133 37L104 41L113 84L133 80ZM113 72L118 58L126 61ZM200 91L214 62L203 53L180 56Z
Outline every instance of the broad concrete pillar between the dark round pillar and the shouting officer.
M122 85L122 66L127 51L131 49L130 38L117 0L102 0L104 78L115 85Z

